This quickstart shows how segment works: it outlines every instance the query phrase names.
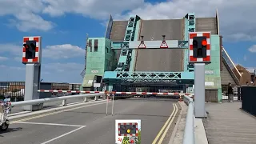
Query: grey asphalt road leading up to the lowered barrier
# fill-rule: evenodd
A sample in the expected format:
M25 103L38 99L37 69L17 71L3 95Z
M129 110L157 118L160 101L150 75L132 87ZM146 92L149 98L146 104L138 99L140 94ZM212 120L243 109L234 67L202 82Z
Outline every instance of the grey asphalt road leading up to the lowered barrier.
M106 102L87 103L77 109L12 123L7 132L0 134L0 143L114 144L116 119L141 119L142 144L150 144L173 112L174 102L160 99L117 100L114 101L114 116L111 115L110 102L108 116ZM170 126L163 144L169 142L173 127L174 124Z

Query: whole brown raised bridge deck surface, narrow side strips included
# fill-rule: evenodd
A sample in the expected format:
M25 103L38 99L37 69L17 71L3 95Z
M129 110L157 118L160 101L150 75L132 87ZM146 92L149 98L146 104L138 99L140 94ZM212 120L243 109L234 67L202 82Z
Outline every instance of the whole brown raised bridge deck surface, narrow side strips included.
M122 42L126 32L127 21L114 21L110 33L113 42ZM166 40L183 39L184 22L183 19L168 20L142 20L140 35L145 41L162 40L162 35L166 35ZM196 18L196 31L210 31L217 34L216 18ZM117 50L119 57L120 50ZM135 60L135 71L183 71L184 50L159 50L140 49Z

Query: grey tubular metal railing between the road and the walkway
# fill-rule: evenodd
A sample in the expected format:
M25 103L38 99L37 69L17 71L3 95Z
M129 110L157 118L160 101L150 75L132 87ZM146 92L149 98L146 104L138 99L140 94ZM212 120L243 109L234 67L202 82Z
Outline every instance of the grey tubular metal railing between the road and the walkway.
M184 102L189 107L186 114L186 125L182 144L194 144L194 100L193 98L184 96Z

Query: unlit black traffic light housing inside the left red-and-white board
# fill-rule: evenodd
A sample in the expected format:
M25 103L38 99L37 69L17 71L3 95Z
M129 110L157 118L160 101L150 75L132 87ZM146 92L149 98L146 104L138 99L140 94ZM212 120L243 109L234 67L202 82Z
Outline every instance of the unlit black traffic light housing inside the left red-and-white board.
M34 59L35 58L35 50L36 50L36 41L26 41L26 44L23 44L26 48L26 59Z

